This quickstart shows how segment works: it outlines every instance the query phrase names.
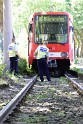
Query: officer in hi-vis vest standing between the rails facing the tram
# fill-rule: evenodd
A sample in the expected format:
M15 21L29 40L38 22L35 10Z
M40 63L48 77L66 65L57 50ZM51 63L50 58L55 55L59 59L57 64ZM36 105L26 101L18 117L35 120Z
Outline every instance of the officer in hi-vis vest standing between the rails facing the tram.
M46 47L48 41L44 41L42 45L39 45L35 50L35 57L37 59L37 66L40 75L41 82L44 81L44 74L48 81L51 81L50 74L48 70L48 60L49 60L49 49Z

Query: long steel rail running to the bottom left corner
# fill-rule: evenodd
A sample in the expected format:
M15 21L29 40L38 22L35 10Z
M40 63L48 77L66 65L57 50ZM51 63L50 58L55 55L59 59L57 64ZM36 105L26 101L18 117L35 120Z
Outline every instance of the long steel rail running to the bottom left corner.
M25 96L36 79L37 75L34 76L28 84L0 111L0 124L3 124L3 122L8 118L9 114L12 113L13 109L15 109L16 105L22 100L23 96Z

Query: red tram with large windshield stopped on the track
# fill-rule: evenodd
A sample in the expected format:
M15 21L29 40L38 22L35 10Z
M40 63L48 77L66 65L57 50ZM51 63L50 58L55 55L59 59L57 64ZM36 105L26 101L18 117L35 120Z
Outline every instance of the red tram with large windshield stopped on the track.
M49 70L64 74L74 62L73 18L68 12L37 12L30 16L28 26L28 63L37 70L34 51L48 40Z

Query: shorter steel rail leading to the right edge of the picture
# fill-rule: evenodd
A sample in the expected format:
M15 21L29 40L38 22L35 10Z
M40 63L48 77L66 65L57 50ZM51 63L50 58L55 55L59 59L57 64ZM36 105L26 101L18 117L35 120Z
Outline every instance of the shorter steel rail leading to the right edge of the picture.
M72 85L77 89L77 91L78 91L81 95L83 95L83 87L82 87L80 84L78 84L76 81L74 81L72 78L68 77L66 74L65 74L65 77L66 77L67 79L69 79L69 80L71 81Z

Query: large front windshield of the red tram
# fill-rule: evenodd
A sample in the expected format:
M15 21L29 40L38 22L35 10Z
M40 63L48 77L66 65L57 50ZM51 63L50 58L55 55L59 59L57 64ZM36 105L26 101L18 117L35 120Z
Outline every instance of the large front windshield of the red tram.
M35 16L35 42L42 40L48 43L67 43L68 17L66 15L37 15Z

